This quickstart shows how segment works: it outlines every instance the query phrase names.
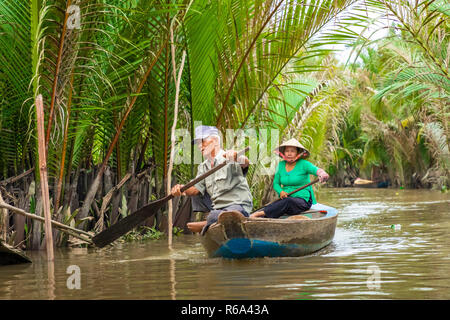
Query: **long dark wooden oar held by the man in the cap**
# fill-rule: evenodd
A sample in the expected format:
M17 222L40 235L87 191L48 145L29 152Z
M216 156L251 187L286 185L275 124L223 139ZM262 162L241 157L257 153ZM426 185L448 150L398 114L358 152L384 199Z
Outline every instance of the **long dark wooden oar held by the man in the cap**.
M249 149L250 148L247 147L244 150L238 152L237 157L243 155ZM187 184L185 184L180 189L180 191L181 192L186 191L193 185L197 184L198 182L202 181L206 177L210 176L217 170L220 170L227 164L228 164L228 162L224 161L223 163L219 164L217 167L212 168L208 172L205 172L201 176L199 176L199 177L191 180ZM126 234L131 229L138 226L140 223L144 222L145 219L154 215L158 211L159 208L161 208L165 203L172 200L173 198L174 198L174 196L169 194L162 199L159 199L159 200L156 200L156 201L153 201L153 202L147 204L145 207L140 208L139 210L135 211L134 213L130 214L129 216L126 216L124 219L119 220L117 223L113 224L108 229L97 234L95 237L92 238L92 241L94 242L94 244L97 247L103 248L104 246L110 244L114 240L116 240L119 237ZM171 232L171 230L169 230L169 232Z

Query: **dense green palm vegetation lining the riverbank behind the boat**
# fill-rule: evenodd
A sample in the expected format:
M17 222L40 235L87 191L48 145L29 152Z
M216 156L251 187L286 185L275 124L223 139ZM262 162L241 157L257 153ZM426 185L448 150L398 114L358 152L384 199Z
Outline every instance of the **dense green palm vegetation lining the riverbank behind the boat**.
M224 135L276 129L310 149L331 186L361 177L444 190L449 15L445 0L3 0L0 191L42 215L42 94L54 220L98 232L163 197L183 51L185 136L199 122ZM195 176L198 151L183 141L174 148L190 161L174 166L172 183ZM259 160L247 175L255 207L273 195ZM189 206L176 199L175 226ZM2 237L42 246L39 222L0 213ZM167 212L145 226L167 232Z

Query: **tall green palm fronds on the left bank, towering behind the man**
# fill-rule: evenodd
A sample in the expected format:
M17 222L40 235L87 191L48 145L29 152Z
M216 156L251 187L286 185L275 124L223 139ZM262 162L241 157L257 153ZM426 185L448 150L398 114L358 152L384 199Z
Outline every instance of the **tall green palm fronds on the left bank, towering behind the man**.
M33 100L42 94L54 213L73 211L78 193L78 218L90 216L108 167L117 183L151 158L163 181L174 94L170 26L188 52L180 124L238 128L260 121L255 110L275 112L265 102L278 99L282 83L301 91L298 80L280 81L286 66L320 54L314 37L352 2L2 1L2 174L36 163ZM89 185L81 193L80 179Z

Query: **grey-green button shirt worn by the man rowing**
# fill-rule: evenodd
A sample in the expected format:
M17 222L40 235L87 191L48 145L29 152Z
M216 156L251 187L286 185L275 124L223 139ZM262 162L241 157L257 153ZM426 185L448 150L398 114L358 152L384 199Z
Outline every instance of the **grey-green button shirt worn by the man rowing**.
M224 150L220 150L214 158L214 166L224 162ZM211 170L209 160L198 165L197 177ZM232 204L240 204L250 213L253 209L253 197L244 177L241 165L229 163L195 185L201 194L207 192L211 197L214 209L221 209Z

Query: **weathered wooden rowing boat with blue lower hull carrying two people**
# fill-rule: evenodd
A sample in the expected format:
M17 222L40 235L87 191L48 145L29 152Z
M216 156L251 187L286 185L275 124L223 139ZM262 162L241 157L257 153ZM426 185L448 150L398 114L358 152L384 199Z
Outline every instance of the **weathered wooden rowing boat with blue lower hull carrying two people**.
M338 217L335 208L316 204L301 216L309 219L246 218L237 211L222 212L202 243L209 257L230 259L298 257L331 243Z

